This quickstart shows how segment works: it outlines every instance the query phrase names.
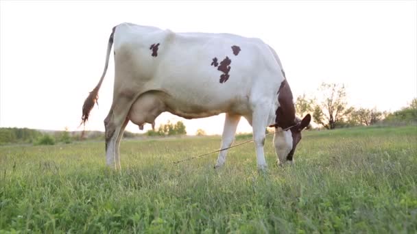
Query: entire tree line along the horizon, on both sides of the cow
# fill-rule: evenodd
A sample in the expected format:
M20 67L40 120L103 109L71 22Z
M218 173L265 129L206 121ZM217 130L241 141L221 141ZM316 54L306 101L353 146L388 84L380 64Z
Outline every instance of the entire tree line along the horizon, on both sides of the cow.
M388 125L417 123L417 98L412 99L407 107L389 113L381 112L376 108L369 109L348 105L346 88L343 84L322 83L318 88L318 94L320 94L320 97L309 98L306 94L298 96L295 101L296 114L305 116L305 114L310 113L313 116L313 122L324 129L369 126L377 123ZM176 123L168 121L166 124L159 125L157 129L145 133L145 135L151 137L186 134L187 130L182 121ZM206 135L206 133L204 130L198 129L196 135ZM141 133L131 133L129 131L123 133L123 138L141 136L143 136ZM46 133L27 128L0 128L0 144L56 144L56 142L68 144L85 139L103 140L104 133L89 131L83 137L80 132L70 133L68 129Z

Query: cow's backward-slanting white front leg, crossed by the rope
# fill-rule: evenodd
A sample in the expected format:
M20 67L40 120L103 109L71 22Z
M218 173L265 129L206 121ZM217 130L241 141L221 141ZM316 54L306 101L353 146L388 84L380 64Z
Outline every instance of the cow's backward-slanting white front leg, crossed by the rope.
M236 128L237 124L239 124L240 117L241 116L226 113L226 119L224 120L224 129L222 135L222 148L230 147L230 145L232 145L233 143L233 140L235 140ZM219 168L224 165L224 162L226 161L227 151L228 150L220 151L219 157L217 157L217 162L214 168Z

